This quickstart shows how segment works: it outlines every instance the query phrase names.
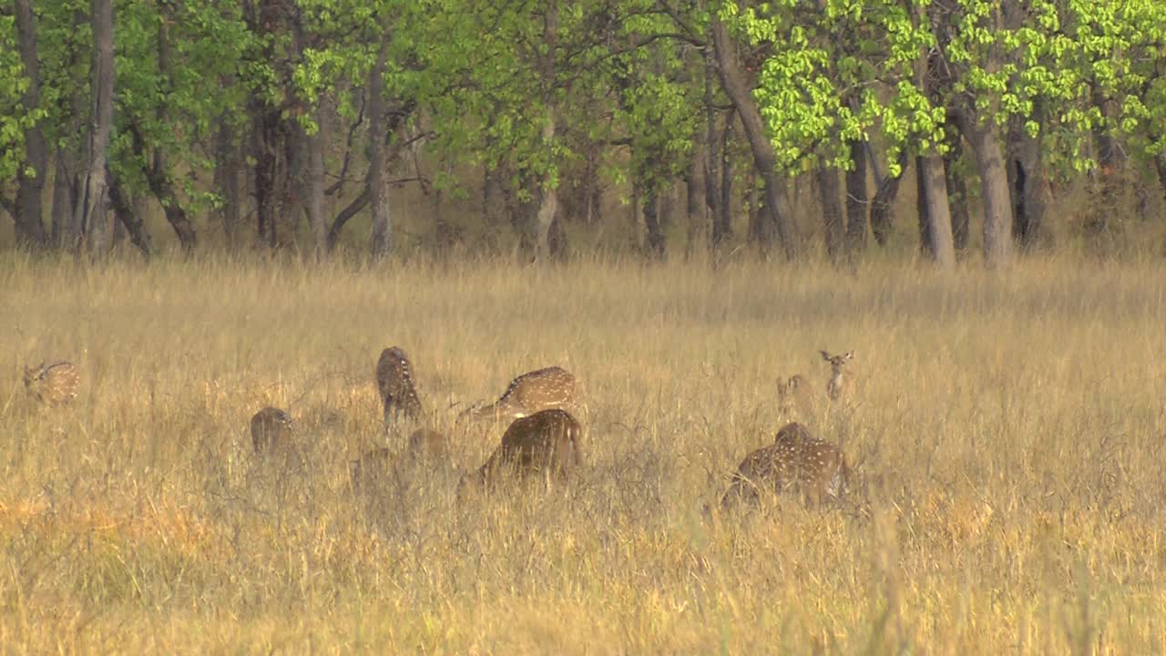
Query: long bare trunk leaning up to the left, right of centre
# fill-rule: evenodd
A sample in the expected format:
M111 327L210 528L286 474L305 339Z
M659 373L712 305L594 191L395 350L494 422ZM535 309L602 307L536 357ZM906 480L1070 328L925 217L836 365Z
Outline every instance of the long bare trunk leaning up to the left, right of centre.
M753 152L757 173L761 176L765 189L765 211L778 228L778 238L781 239L786 259L793 260L798 257L799 244L789 212L789 198L786 195L786 188L778 181L778 160L773 152L773 142L770 141L765 121L761 119L757 103L745 84L744 74L737 61L737 53L733 50L735 44L729 39L729 30L715 13L712 16L712 44L717 57L721 85L740 117L742 126L745 128L745 138Z

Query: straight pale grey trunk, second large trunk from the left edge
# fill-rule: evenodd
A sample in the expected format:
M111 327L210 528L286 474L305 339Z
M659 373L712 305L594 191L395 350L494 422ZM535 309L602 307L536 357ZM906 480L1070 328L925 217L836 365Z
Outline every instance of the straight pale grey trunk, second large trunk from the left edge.
M105 216L108 189L106 161L113 130L113 0L92 0L93 62L90 74L92 113L86 145L85 177L75 214L91 257L103 258L110 247L110 224Z

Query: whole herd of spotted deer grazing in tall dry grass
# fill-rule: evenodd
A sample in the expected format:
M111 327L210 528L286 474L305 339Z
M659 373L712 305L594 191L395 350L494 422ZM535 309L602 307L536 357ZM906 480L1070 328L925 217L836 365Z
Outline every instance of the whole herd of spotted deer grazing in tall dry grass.
M847 364L854 351L831 355L820 351L830 365L826 395L815 393L801 375L779 381L779 412L789 417L815 414L817 404L844 402L854 393L854 376ZM350 462L352 489L360 494L385 474L399 458L445 463L451 459L451 440L445 433L424 426L424 411L413 364L399 347L385 349L377 361L377 388L384 421L393 432L402 424L417 425L403 440L400 454L388 447L375 448ZM24 369L24 388L37 402L58 405L77 397L79 372L69 362ZM582 385L560 367L522 374L511 381L498 400L470 407L457 417L455 430L466 423L489 419L508 423L500 444L478 469L461 477L458 495L468 490L489 490L506 480L566 482L583 466L583 427L577 417L583 410ZM251 419L252 448L257 456L286 453L295 444L292 417L278 407L264 407ZM772 444L749 453L732 474L721 507L730 510L742 502L756 504L763 493L794 493L812 504L838 500L845 494L850 469L834 444L815 438L795 421L784 425Z

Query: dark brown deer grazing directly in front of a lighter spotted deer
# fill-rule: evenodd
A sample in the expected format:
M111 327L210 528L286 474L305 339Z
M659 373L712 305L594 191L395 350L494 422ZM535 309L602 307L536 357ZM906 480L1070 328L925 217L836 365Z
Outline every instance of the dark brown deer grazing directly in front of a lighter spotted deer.
M486 463L463 477L461 487L470 483L486 487L508 474L519 479L542 475L564 481L583 463L582 433L580 423L559 409L515 419Z

